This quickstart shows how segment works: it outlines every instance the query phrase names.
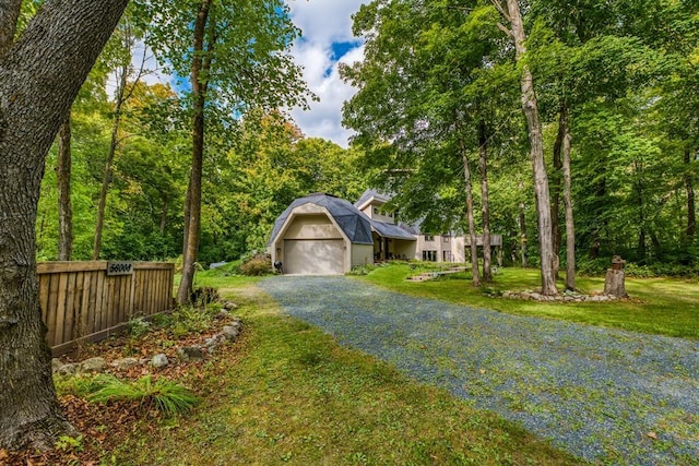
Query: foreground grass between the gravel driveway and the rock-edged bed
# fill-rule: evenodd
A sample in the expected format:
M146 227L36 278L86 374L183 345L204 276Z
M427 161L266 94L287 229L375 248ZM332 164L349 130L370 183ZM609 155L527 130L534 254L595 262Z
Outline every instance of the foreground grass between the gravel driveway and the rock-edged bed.
M537 464L581 462L446 391L340 347L232 285L244 338L198 377L204 402L187 422L134 434L118 464ZM237 346L238 346L237 345ZM187 381L185 381L187 383Z

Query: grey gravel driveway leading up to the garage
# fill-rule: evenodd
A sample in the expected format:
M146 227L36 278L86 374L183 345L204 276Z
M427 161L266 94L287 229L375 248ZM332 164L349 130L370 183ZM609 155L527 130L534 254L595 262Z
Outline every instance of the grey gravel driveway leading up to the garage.
M259 286L343 345L578 456L699 465L699 342L472 309L345 277Z

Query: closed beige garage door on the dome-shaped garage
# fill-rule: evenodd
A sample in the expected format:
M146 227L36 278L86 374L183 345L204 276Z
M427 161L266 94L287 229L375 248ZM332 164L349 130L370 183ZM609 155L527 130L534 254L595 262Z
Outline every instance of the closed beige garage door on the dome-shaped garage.
M284 241L284 273L298 275L342 275L344 240L287 239Z

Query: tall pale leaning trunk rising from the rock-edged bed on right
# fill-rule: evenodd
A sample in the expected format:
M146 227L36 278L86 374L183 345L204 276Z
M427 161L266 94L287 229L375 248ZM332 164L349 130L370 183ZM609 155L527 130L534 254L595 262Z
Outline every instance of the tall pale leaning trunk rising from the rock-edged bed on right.
M520 5L517 0L507 0L508 16L511 34L514 39L516 58L522 65L522 110L526 117L529 127L529 141L531 145L532 169L534 172L534 193L536 198L536 213L538 218L538 247L541 254L542 295L555 296L556 274L554 271L554 247L552 240L550 199L548 192L548 178L544 163L544 141L542 124L538 119L538 104L534 92L534 80L528 64L523 61L526 48L524 43L526 35L522 24Z

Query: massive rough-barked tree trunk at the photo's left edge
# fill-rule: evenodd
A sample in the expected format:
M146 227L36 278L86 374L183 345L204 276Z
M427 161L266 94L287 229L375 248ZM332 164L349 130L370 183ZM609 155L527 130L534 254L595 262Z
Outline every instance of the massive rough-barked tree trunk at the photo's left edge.
M36 210L46 154L126 5L46 0L0 58L0 449L50 449L70 431L38 300Z

